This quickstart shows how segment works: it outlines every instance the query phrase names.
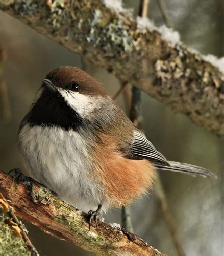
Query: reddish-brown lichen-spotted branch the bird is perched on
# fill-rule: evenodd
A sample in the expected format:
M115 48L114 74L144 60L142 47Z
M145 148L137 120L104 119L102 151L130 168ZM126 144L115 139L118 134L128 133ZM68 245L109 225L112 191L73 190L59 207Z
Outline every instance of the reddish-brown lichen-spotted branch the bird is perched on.
M15 213L59 239L98 255L163 255L142 239L122 228L103 222L89 231L85 215L58 199L46 187L32 183L12 183L12 177L0 171L0 193L10 200ZM1 233L1 231L0 231Z

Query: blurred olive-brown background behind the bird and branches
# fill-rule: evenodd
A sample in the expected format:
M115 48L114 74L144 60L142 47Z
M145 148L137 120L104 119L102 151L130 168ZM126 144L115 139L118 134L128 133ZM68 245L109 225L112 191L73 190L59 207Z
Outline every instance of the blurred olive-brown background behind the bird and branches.
M138 14L139 1L123 2L125 7L133 8L134 15ZM167 0L166 6L172 26L180 32L184 44L203 54L223 56L222 0ZM163 24L156 0L150 1L148 16L156 25ZM3 75L11 111L7 120L1 105L0 168L5 172L15 167L22 168L17 145L18 127L49 71L63 65L85 66L85 70L101 82L111 96L120 88L113 75L84 62L79 55L3 12L0 12L1 47L7 49L8 55ZM124 108L122 95L117 101ZM147 138L169 160L199 165L218 175L217 180L212 180L160 173L185 253L191 256L224 255L223 142L146 94L142 95L142 117ZM131 218L138 236L163 253L177 255L160 203L153 192L131 205ZM120 210L109 211L105 221L120 223ZM91 254L59 241L29 223L26 226L41 255Z

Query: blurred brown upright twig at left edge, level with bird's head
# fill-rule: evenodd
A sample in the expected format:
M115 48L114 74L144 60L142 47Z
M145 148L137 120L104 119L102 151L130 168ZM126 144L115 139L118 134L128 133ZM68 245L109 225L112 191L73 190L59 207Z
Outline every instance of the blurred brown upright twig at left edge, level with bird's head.
M3 117L6 122L9 122L11 119L11 109L9 104L9 96L7 90L7 84L5 82L3 76L3 66L4 62L7 59L7 52L6 48L2 47L0 49L0 97L2 101L2 108L3 108Z

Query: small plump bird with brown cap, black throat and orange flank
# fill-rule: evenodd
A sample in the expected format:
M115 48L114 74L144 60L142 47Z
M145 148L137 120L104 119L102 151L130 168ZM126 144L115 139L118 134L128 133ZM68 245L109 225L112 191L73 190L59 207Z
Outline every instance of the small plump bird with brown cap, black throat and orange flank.
M204 168L167 161L104 87L76 67L46 76L18 139L30 177L87 212L90 224L145 193L155 169L214 177Z

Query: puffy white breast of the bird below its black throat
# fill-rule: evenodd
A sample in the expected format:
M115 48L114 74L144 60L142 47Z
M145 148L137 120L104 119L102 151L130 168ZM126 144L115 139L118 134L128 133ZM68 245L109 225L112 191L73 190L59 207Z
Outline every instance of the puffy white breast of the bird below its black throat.
M19 133L19 147L31 177L84 211L101 203L86 139L73 130L29 124Z

